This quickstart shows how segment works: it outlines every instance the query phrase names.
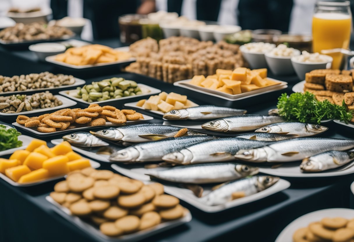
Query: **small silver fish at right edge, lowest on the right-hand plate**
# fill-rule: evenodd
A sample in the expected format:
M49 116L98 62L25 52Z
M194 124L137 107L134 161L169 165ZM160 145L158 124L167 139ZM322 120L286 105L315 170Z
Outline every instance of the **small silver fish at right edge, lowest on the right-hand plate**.
M303 172L320 172L338 168L354 160L354 151L331 150L303 159L300 169Z

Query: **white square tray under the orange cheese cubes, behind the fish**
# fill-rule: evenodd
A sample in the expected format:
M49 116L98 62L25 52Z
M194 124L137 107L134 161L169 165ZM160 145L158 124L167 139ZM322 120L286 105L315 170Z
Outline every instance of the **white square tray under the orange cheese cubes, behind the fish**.
M258 96L258 95L261 95L264 93L274 92L274 91L278 91L278 90L282 90L284 88L287 88L287 82L285 82L285 81L279 81L279 80L275 80L272 78L268 78L268 79L273 80L273 81L278 81L279 84L268 86L268 87L262 87L257 90L253 90L253 91L245 92L245 93L241 93L241 94L236 94L236 95L231 95L231 94L220 92L217 90L211 90L209 88L191 85L191 84L189 84L189 82L192 79L177 81L177 82L173 83L173 85L178 86L178 87L182 87L182 88L186 88L186 89L189 89L189 90L192 90L195 92L207 94L210 96L219 97L219 98L229 100L229 101L236 101L236 100L241 100L241 99L245 99L245 98L255 97L255 96Z

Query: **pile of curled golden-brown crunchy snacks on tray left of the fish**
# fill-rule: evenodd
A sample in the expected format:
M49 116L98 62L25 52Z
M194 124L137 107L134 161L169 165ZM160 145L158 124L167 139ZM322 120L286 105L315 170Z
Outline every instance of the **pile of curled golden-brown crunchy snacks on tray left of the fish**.
M37 127L42 133L51 133L73 129L82 126L101 126L106 121L114 125L123 125L126 121L144 119L141 113L131 109L116 109L114 106L99 106L91 104L88 108L61 109L51 114L43 114L38 117L18 115L16 122L25 127Z

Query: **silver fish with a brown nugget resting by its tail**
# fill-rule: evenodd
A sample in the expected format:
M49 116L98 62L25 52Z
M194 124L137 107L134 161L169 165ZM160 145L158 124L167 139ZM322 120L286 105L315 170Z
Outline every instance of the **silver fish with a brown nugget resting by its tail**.
M129 143L142 143L174 137L181 129L181 127L170 125L144 123L119 128L103 129L97 132L90 131L90 133L92 133L94 136L113 140L116 142L122 141ZM185 136L192 135L206 134L194 132L192 130L188 130L185 134Z

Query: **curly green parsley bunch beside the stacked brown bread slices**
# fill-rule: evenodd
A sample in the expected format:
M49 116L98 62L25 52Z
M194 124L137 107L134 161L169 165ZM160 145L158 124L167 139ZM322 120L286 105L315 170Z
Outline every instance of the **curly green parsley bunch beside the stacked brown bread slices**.
M309 92L296 92L290 96L283 93L278 98L277 108L279 116L285 120L303 123L320 123L321 120L328 119L339 119L348 123L353 117L352 113L347 112L344 100L342 106L332 104L328 100L320 102Z

